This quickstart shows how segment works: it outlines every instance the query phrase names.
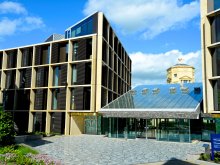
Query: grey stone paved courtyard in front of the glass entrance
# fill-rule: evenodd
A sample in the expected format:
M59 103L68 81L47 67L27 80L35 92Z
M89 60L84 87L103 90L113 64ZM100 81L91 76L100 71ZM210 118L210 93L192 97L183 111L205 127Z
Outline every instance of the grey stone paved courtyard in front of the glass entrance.
M32 147L65 165L127 165L185 160L204 152L202 142L175 143L156 140L125 140L98 135L55 136L32 141Z

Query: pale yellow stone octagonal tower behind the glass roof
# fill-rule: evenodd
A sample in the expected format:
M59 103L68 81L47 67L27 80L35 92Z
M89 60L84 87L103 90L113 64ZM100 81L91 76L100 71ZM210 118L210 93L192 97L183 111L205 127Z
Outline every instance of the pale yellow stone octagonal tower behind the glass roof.
M193 83L195 82L194 74L195 68L193 66L179 62L167 69L167 83Z

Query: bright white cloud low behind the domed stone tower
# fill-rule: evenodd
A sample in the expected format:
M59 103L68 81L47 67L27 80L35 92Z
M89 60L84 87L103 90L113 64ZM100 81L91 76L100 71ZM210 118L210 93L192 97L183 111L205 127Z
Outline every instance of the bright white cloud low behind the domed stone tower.
M200 51L187 54L179 50L160 54L136 52L131 53L130 58L132 60L132 86L166 83L166 70L177 64L178 58L183 58L185 64L194 66L196 81L202 81Z

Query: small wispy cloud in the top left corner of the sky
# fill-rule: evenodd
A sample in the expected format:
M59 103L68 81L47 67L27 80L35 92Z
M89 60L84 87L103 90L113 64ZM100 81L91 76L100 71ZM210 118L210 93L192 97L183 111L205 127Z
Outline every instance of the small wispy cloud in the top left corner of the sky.
M5 1L0 3L0 13L26 14L27 11L20 3Z

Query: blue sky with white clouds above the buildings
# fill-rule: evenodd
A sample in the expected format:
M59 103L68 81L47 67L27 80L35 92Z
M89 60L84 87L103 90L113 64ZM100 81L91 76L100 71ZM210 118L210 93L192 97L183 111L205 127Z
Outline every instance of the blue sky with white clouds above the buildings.
M199 0L0 0L0 49L44 42L95 11L132 59L132 86L166 83L183 58L202 81Z

